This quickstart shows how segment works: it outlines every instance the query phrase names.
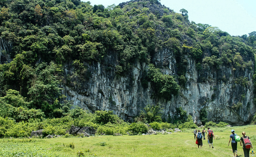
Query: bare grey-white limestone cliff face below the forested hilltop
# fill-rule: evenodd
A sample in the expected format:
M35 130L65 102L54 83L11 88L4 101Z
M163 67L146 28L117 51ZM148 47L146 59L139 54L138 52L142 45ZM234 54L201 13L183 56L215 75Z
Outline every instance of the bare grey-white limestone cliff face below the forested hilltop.
M113 56L114 54L109 53L104 62L114 67L117 63ZM90 79L81 81L80 87L63 85L63 94L68 100L73 100L74 105L85 110L112 110L114 114L130 122L146 105L157 103L163 108L166 118L173 118L176 108L182 107L187 114L192 115L197 125L202 125L199 116L203 108L206 109L210 121L242 125L250 120L256 111L253 105L253 68L239 71L219 66L218 70L197 70L195 61L190 57L186 59L188 65L185 76L188 81L177 96L170 96L170 101L153 99L151 95L154 89L150 82L148 88L142 87L141 78L147 66L140 62L134 64L128 76L117 76L114 70L106 70L104 64L96 61L87 64L87 70L91 72ZM248 54L244 60L253 61L252 54ZM152 61L157 66L165 66L161 69L163 74L176 75L176 60L169 50L159 50ZM69 67L66 74L72 71ZM248 78L246 86L234 81L236 78L245 77ZM238 102L242 104L236 109L233 106Z

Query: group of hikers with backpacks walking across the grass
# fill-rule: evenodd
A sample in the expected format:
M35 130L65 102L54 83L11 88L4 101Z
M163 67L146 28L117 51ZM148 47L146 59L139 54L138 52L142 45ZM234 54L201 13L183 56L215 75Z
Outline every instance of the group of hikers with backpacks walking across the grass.
M208 144L211 148L213 148L213 139L215 139L214 137L214 133L213 131L210 129L210 127L207 128L208 130L206 131L205 129L202 130L202 132L200 132L200 130L197 130L195 129L193 131L194 133L194 138L196 139L196 144L199 148L200 146L200 149L202 149L202 146L203 146L203 141L202 139L206 139L205 138L205 134L207 132L207 139L208 139ZM240 141L240 146L243 146L243 150L244 150L244 156L245 157L249 157L250 156L250 149L253 148L252 147L252 142L251 142L251 139L246 136L245 134L245 131L242 132L242 135L243 137L239 137L237 134L235 134L235 130L231 130L231 135L230 135L230 138L229 138L229 143L231 141L231 147L232 147L232 150L233 150L233 153L234 153L234 157L238 156L237 155L237 142ZM229 146L229 144L228 144ZM253 150L251 151L252 154L254 154Z

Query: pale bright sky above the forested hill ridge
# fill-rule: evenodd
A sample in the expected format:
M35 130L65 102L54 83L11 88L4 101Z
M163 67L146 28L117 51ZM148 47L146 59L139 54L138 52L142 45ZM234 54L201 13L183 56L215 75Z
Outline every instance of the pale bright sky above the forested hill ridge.
M129 0L82 0L91 5L109 5ZM256 0L160 0L162 5L180 13L188 11L189 21L219 27L230 35L238 36L256 31Z

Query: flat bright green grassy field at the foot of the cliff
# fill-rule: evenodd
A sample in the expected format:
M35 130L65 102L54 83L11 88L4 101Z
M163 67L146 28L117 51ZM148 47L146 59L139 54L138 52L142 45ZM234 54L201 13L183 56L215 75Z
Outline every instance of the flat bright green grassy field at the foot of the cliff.
M256 146L256 126L212 128L214 149L203 140L203 149L197 149L192 130L158 135L95 136L85 138L0 139L0 157L75 157L82 150L86 157L231 157L229 135L234 129L240 137L245 131ZM72 149L72 147L74 149ZM238 144L238 155L244 156Z

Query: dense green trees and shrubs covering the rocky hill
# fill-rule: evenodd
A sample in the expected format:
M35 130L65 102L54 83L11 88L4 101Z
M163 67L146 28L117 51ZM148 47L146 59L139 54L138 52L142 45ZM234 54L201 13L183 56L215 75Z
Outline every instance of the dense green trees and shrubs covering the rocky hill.
M79 89L81 80L90 80L93 72L87 70L87 65L93 63L103 65L117 77L129 76L135 61L146 63L142 86L147 88L151 82L153 97L166 100L177 95L188 81L185 56L195 60L197 70L228 66L239 73L254 68L255 61L246 60L246 56L255 58L256 32L230 36L218 27L190 22L185 9L180 12L162 6L158 0L136 0L106 8L80 0L0 1L0 137L29 135L11 135L7 126L12 125L20 129L33 124L28 127L30 132L47 128L50 134L54 132L50 129L61 122L65 127L54 133L64 134L63 130L74 123L96 128L96 124L108 123L97 121L106 112L98 111L93 116L74 107L62 94L61 85ZM155 53L165 49L175 55L175 74L161 72L168 63L152 62ZM116 65L106 62L113 53ZM237 77L234 81L246 87L248 78ZM192 122L182 108L179 111L183 117L164 119L161 109L148 107L135 122ZM107 113L118 119L112 112ZM206 117L202 119L207 123ZM124 123L113 119L109 122Z

